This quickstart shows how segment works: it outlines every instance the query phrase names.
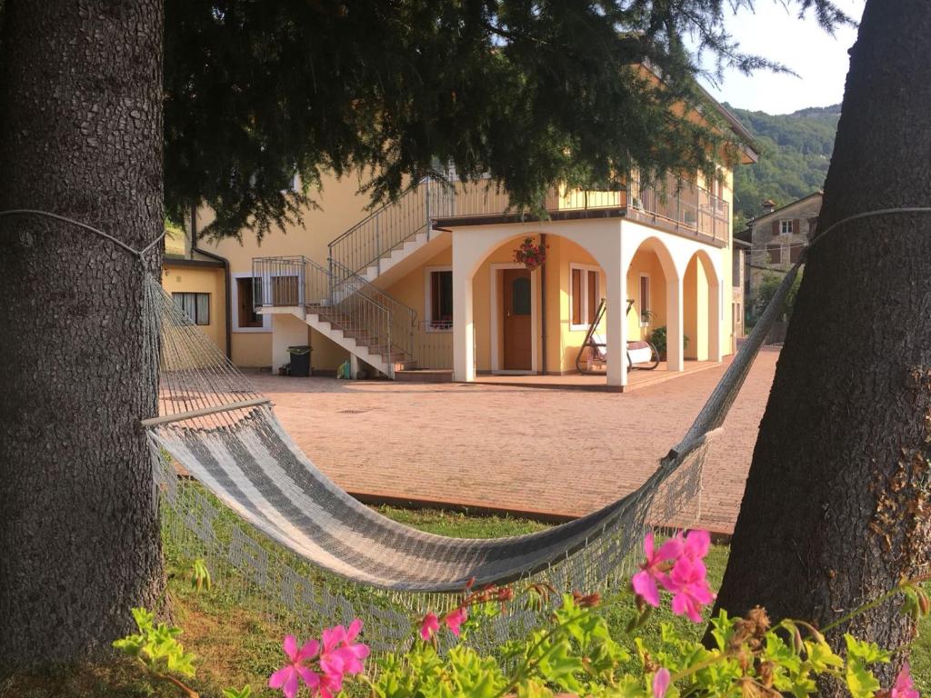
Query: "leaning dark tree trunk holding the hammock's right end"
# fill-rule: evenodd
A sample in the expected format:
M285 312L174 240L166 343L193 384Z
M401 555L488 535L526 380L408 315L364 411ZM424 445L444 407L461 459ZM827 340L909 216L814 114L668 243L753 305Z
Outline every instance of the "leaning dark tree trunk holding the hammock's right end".
M865 211L931 206L929 35L927 0L867 3L819 230ZM844 223L811 249L719 607L760 604L823 626L926 569L929 262L926 213ZM832 641L850 630L896 648L913 633L896 606Z

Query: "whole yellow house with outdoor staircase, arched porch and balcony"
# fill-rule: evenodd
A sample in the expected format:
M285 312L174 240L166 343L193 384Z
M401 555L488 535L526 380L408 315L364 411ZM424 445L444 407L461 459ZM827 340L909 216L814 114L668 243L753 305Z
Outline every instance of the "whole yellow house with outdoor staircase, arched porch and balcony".
M748 144L742 157L757 154ZM506 195L483 182L425 180L373 212L358 184L325 182L321 209L305 211L303 227L266 235L261 248L245 232L241 245L201 242L189 261L167 259L166 288L212 294L211 311L228 297L211 336L223 347L228 327L229 354L243 367L277 369L290 345L310 344L317 372L350 359L370 374L445 369L468 382L600 364L608 384L624 386L627 342L659 328L670 371L734 350L728 168L708 182L696 175L657 186L633 175L620 191L560 187L536 221L509 212ZM201 214L196 226L206 222ZM533 270L515 257L528 238L546 253ZM580 364L602 299L592 330L598 356L583 352Z

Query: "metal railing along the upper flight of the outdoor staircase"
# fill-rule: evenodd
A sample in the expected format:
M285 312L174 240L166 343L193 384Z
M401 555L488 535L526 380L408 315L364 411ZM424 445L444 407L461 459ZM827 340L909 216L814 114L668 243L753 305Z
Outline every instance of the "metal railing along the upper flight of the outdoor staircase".
M419 233L430 236L430 221L452 211L455 194L450 184L425 178L398 201L358 221L330 243L330 259L364 274L380 266L382 258Z

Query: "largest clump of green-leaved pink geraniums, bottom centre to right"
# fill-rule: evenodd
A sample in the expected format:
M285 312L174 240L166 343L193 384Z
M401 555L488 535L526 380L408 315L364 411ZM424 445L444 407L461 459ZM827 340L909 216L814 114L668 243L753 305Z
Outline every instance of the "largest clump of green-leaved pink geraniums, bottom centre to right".
M842 657L814 625L794 620L771 624L761 608L744 618L732 618L721 611L710 620L710 647L682 638L672 624L661 625L658 642L650 644L639 637L638 630L654 608L663 604L667 593L674 614L694 623L704 622L702 611L714 600L704 563L709 546L708 533L700 530L679 534L658 546L652 534L646 537L645 560L629 589L638 612L627 624L632 636L627 647L612 637L606 619L596 611L599 595L575 592L549 599L556 591L552 586L531 584L523 590L525 603L543 609L546 600L555 601L546 627L525 640L506 643L494 656L482 656L463 643L444 655L438 649L440 633L466 638L487 619L508 612L514 598L511 589L489 586L476 592L469 584L454 611L425 615L416 631L422 641L415 642L412 650L388 655L379 662L377 678L371 681L372 695L552 698L557 693L571 693L593 698L776 698L790 694L802 698L816 693L818 678L833 677L854 698L918 698L908 664L895 684L882 690L871 667L889 662L890 652L845 635ZM858 612L897 594L905 595L905 608L913 616L928 611L921 587L914 581L903 581L830 627L846 623Z

